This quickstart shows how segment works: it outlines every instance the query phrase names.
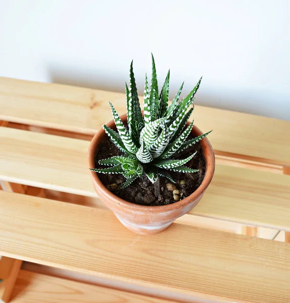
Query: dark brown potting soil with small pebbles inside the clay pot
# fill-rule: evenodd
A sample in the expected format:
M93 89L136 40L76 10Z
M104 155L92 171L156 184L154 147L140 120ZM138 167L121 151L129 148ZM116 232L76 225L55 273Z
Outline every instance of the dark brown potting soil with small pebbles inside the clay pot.
M188 139L191 138L192 137L188 137ZM172 185L180 191L180 199L189 196L201 185L204 179L206 166L200 142L183 150L182 153L178 154L173 159L185 159L195 153L195 151L197 151L196 156L191 159L186 166L192 169L199 169L199 172L188 174L169 171L173 180L177 182L176 184L173 184L164 177L159 177L159 180L152 184L147 176L143 175L142 177L137 178L131 185L122 189L121 185L125 182L125 177L123 175L98 173L98 177L109 190L126 201L147 206L168 205L176 202L173 197ZM122 151L120 151L108 138L99 145L99 151L95 155L95 167L105 168L104 166L99 165L99 160L122 155L124 155L124 153L122 153ZM180 181L182 181L181 184ZM170 188L171 191L168 190L168 188Z

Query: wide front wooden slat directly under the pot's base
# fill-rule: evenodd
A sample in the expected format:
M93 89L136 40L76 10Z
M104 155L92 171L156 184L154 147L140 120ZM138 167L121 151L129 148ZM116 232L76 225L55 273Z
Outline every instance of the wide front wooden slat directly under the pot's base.
M0 254L229 301L290 300L290 245L173 224L141 236L114 215L0 191Z

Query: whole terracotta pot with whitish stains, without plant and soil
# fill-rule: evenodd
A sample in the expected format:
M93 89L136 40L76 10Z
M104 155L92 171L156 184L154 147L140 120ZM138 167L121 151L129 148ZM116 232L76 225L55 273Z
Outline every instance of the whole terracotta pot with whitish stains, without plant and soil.
M127 115L120 117L126 121ZM114 120L107 124L110 128L116 129ZM199 136L202 132L194 126L191 134ZM94 158L98 152L98 145L107 139L108 136L103 129L92 138L88 149L88 167L95 168ZM164 206L143 206L125 201L111 191L100 181L95 172L89 171L94 189L106 206L114 212L119 221L131 231L140 234L154 234L167 228L173 221L192 210L202 198L209 186L215 169L215 158L212 146L207 138L200 141L203 155L206 159L206 173L200 187L190 196Z

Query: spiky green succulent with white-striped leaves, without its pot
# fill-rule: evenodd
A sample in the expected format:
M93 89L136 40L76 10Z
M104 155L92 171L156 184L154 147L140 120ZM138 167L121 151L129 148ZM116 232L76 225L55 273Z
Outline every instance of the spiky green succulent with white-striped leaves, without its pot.
M126 181L122 188L132 184L137 178L146 174L151 182L156 182L158 176L163 176L174 182L168 171L195 173L196 169L184 166L195 154L182 160L173 160L173 155L202 140L210 132L197 138L187 140L193 122L187 127L186 123L193 111L191 105L200 86L201 79L194 89L183 99L179 100L183 83L169 106L168 71L160 95L154 57L152 55L152 79L149 90L148 78L145 78L144 107L141 113L133 63L130 65L129 87L125 83L127 99L127 123L124 125L115 108L110 103L118 133L104 125L104 130L111 141L124 153L99 161L100 165L110 166L104 169L93 169L100 173L120 173Z

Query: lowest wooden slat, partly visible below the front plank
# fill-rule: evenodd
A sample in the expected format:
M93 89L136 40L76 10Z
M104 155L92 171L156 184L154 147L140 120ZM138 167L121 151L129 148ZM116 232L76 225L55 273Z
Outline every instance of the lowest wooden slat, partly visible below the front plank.
M89 285L47 275L20 271L10 303L166 303L173 302Z

